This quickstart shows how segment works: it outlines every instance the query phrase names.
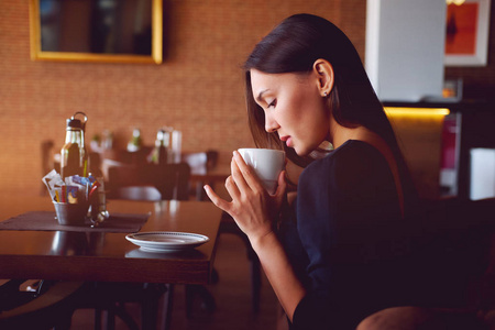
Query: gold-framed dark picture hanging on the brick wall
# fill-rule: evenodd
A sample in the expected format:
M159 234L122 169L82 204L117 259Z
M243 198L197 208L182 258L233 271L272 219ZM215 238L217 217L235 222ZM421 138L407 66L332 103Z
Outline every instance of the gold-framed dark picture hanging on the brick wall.
M98 30L101 26L108 28L108 25L103 24L108 24L109 21L112 21L112 18L109 20L109 13L116 18L117 12L117 9L113 9L113 12L111 12L112 8L108 7L109 2L111 3L111 1L106 1L105 6L95 9L97 7L95 3L97 2L91 0L30 0L31 59L161 64L163 62L163 0L135 0L125 2L132 3L133 6L141 6L140 9L142 10L127 9L124 11L125 16L118 16L117 20L120 22L119 26L123 25L122 22L130 21L133 23L131 28L119 28L122 30L118 31L120 33L118 37L111 35L114 32L113 30L107 34L101 33L101 29ZM113 3L116 8L119 8L118 14L122 14L121 3L124 2L114 0ZM53 9L50 6L58 8ZM70 8L70 6L73 7ZM101 12L107 14L107 16L103 16L101 20L96 20L96 10L100 10L97 12L97 16L99 13L99 18L101 18ZM74 15L69 18L70 13L74 13ZM129 16L131 13L134 16ZM138 16L138 13L142 15ZM47 21L51 22L51 25L45 25ZM95 26L95 21L100 22L99 25ZM135 41L136 22L141 24L140 31L142 31L142 35L139 35L139 43ZM113 29L116 25L113 23L111 28ZM51 32L51 29L55 32ZM129 32L130 30L132 31ZM47 32L52 34L46 34ZM121 37L122 35L128 36L130 34L131 36L127 38ZM46 37L46 35L51 35L51 37ZM79 41L78 35L84 36L81 37L84 38L81 45L76 44ZM94 41L95 37L99 38L98 43ZM54 40L55 42L53 42ZM108 45L108 40L113 41L112 46ZM121 40L125 40L127 43L121 45ZM52 41L52 43L47 43L46 41ZM116 41L121 44L113 46L117 43ZM133 51L128 51L129 48Z

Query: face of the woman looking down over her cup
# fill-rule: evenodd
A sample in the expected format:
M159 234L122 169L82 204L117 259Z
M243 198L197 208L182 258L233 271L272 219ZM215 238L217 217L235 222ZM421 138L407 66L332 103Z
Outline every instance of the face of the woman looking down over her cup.
M330 121L314 72L265 74L251 69L251 85L256 103L265 112L265 130L277 132L299 156L308 155L326 140Z

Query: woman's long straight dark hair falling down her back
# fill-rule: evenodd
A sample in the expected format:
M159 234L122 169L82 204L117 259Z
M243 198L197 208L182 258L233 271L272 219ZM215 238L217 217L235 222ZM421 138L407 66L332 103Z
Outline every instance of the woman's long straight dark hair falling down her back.
M336 121L343 127L363 125L382 136L394 153L403 179L409 177L394 130L354 45L339 28L317 15L285 19L256 44L244 64L249 123L256 146L284 148L299 166L311 162L285 146L277 133L265 131L264 112L254 100L250 70L310 73L318 58L327 59L333 68L334 84L328 101Z

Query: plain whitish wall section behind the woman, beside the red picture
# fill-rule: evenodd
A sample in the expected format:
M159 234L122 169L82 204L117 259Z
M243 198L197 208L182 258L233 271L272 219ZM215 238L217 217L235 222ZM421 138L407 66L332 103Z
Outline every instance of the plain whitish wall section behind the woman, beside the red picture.
M446 0L367 0L365 65L382 101L441 98Z

